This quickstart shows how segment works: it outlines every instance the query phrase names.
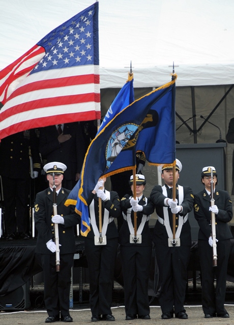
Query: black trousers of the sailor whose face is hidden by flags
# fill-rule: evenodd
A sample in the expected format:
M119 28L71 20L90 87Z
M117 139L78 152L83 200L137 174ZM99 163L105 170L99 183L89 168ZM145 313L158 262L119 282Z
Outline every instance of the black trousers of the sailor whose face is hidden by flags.
M94 238L84 237L84 250L90 275L90 307L92 315L112 314L112 289L118 238L95 245Z

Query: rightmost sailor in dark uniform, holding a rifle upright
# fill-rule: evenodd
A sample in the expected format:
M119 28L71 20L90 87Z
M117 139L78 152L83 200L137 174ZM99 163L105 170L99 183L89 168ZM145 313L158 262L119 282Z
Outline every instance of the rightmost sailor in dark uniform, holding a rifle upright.
M213 199L211 207L211 170L213 175ZM232 219L232 202L227 191L216 187L217 173L214 167L202 169L201 182L205 188L194 196L194 216L199 224L198 252L201 266L202 309L205 318L228 318L224 308L226 293L227 263L232 238L228 222ZM213 239L211 211L215 214L217 267L213 267ZM214 280L216 279L216 289Z

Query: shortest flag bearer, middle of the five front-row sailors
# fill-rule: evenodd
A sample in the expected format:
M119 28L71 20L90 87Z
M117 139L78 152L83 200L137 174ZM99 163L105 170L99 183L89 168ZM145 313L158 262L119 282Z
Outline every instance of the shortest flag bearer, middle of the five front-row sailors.
M133 175L129 181L133 192ZM152 255L149 229L154 206L143 195L145 177L136 174L136 200L129 194L121 199L124 222L119 231L122 271L124 278L126 320L150 319L148 281ZM134 240L134 212L137 216L137 236Z

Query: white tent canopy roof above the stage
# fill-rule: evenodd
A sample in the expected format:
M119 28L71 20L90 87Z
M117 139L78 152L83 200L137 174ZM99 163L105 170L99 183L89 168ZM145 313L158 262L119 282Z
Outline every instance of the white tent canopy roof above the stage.
M0 70L95 0L0 0ZM232 0L100 0L101 88L225 85L234 76Z

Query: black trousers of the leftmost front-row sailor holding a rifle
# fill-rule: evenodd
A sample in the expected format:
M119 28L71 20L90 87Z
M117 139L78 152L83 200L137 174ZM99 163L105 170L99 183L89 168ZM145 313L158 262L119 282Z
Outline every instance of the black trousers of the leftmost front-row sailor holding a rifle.
M71 268L74 253L60 255L60 271L56 272L56 255L40 254L44 277L44 301L49 316L69 315Z

